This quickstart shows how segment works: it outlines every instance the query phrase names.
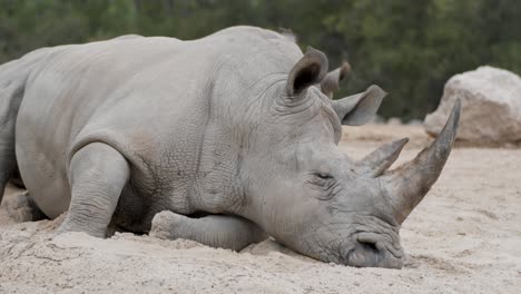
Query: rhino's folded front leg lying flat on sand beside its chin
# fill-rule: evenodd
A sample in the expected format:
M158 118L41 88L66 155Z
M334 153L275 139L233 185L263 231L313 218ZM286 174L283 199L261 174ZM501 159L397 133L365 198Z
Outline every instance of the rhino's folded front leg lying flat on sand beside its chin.
M190 218L167 210L154 217L150 236L191 239L233 251L240 251L268 237L256 224L239 216L208 215Z

